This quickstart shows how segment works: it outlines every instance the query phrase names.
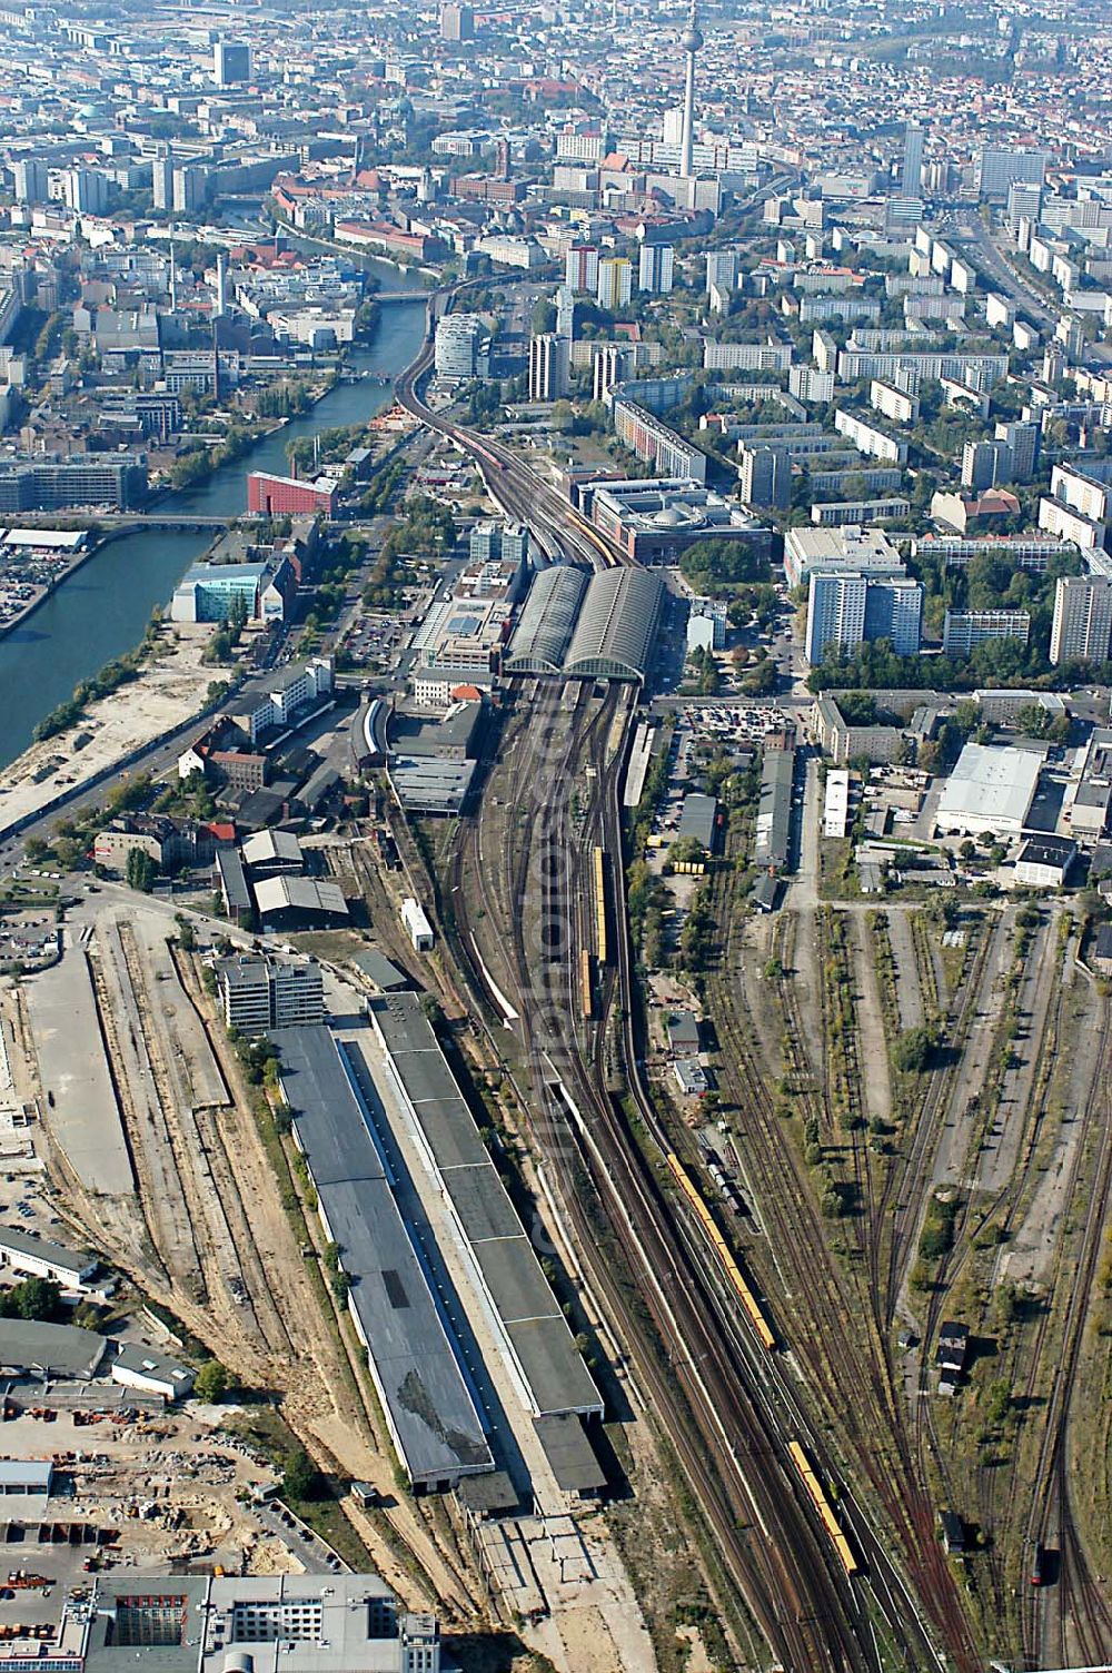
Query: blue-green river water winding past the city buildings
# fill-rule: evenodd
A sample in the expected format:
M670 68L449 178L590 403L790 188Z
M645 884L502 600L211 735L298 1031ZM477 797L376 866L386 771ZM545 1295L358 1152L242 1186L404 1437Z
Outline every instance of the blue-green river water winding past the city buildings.
M381 289L405 288L383 264ZM355 368L396 376L425 336L425 291L411 303L388 303L370 345L351 356ZM336 425L371 418L391 400L378 383L339 383L301 418L266 437L242 458L212 472L159 509L199 517L239 517L247 509L247 472L286 473L286 442ZM13 761L43 714L70 696L80 679L114 656L130 651L150 611L166 606L174 587L202 557L216 530L206 534L132 534L109 540L82 564L20 627L0 639L0 766Z

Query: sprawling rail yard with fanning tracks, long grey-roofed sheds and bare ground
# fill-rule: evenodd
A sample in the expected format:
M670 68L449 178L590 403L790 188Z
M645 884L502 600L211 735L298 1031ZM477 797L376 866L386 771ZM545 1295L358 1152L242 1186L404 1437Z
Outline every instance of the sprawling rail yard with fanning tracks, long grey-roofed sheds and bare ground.
M475 1668L488 1633L522 1670L679 1665L692 1588L711 1666L1097 1665L1092 892L980 888L956 838L923 843L945 887L896 843L873 890L880 862L828 825L803 701L744 726L741 704L655 703L677 594L523 452L426 405L431 328L465 293L430 304L400 403L582 576L580 614L537 612L495 693L485 669L443 681L436 766L405 714L418 805L398 691L368 683L353 713L329 671L301 768L343 766L346 801L221 836L161 897L110 868L80 883L55 962L3 990L12 1178L42 1171L50 1225L117 1275L109 1357L154 1355L161 1328L191 1387L206 1353L242 1387L194 1407L204 1427L144 1409L192 1474L152 1489L166 1537L125 1537L127 1566L363 1554ZM423 602L463 619L440 582ZM125 818L120 842L150 838ZM48 1362L25 1360L30 1404ZM23 1395L13 1452L40 1420ZM67 1399L64 1452L92 1397ZM266 1511L294 1444L328 1484L319 1526ZM154 1462L120 1442L80 1492L132 1521ZM194 1481L219 1486L211 1526Z

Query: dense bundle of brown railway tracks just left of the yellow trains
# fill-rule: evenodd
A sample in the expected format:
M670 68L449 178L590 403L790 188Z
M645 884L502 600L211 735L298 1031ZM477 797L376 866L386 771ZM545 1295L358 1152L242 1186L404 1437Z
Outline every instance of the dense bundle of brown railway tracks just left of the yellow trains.
M599 763L605 751L604 728L595 721L584 738L585 726L587 719L580 716L580 743L587 758ZM595 778L595 785L600 783ZM599 790L599 795L592 793L589 806L599 808L600 801ZM567 796L557 798L555 805L567 810ZM637 1276L642 1302L634 1307L615 1263L592 1261L592 1283L607 1308L624 1322L639 1385L664 1417L669 1439L704 1504L731 1588L746 1596L786 1665L799 1670L871 1666L871 1655L863 1658L843 1614L844 1599L839 1601L836 1591L829 1596L826 1556L806 1524L806 1512L794 1501L791 1507L781 1502L783 1477L769 1471L769 1437L759 1427L744 1427L752 1425L754 1419L742 1404L737 1367L722 1347L714 1312L707 1313L706 1302L699 1308L692 1305L692 1295L701 1295L706 1278L692 1268L686 1245L672 1231L655 1176L615 1109L609 1084L619 1034L615 1004L620 984L614 979L604 984L600 1019L590 1026L590 1046L584 1052L572 1021L570 944L564 935L559 940L550 937L538 965L537 949L528 940L530 927L543 922L567 922L574 925L574 934L582 934L585 918L577 908L584 893L577 875L579 855L595 835L602 831L592 830L589 820L582 820L575 833L569 830L565 815L555 823L547 820L530 838L532 872L518 873L517 878L517 887L525 888L527 910L520 913L520 932L513 935L513 997L527 1024L535 1024L545 1039L553 1019L557 1027L550 1041L553 1057L547 1086L543 1079L540 1086L543 1108L538 1111L535 1133L550 1178L555 1178L559 1196L579 1231L580 1246L585 1251L597 1248L599 1218L592 1203L604 1205L609 1235L617 1240ZM609 843L607 850L610 852ZM482 930L483 923L490 937L488 920L477 923L475 930ZM472 925L460 925L463 950L470 932ZM553 1089L557 1079L564 1091ZM587 1179L592 1181L590 1188ZM645 1307L649 1317L644 1313ZM669 1350L666 1358L661 1357L661 1342ZM692 1417L697 1422L692 1424ZM761 1517L771 1532L771 1549L757 1541L754 1551L754 1541L739 1531L739 1522L747 1527L754 1522L739 1459L751 1464L757 1461L759 1469L757 1469L757 1481L763 1482ZM794 1521L784 1532L786 1516ZM808 1551L804 1564L793 1561L798 1546ZM823 1630L821 1623L831 1621L834 1626ZM833 1638L833 1651L826 1646L828 1638Z

